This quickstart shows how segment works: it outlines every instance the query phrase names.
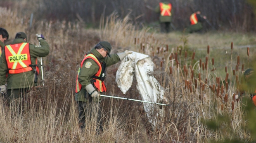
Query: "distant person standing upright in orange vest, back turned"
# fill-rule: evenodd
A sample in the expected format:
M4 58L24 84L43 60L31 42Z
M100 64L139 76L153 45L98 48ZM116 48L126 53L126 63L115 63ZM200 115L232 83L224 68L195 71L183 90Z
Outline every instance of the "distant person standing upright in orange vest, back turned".
M171 16L173 14L171 3L160 2L159 5L155 8L155 12L160 13L160 31L166 33L170 32Z

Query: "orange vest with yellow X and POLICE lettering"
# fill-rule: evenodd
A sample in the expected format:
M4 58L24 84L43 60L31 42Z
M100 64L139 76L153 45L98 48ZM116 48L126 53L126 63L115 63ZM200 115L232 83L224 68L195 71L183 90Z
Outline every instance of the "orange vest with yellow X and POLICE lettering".
M6 45L5 59L7 62L9 74L19 74L22 72L33 70L29 52L29 43L24 42L19 44ZM39 69L37 66L36 71L39 73Z

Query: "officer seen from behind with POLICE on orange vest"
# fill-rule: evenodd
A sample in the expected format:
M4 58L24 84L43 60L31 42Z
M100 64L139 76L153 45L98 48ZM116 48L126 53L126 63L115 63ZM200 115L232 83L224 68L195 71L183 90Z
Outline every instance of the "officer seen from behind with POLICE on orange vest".
M24 32L18 32L12 44L6 45L0 58L0 85L5 85L11 101L22 97L33 85L36 85L37 57L45 57L50 47L43 35L36 34L40 46L27 43Z

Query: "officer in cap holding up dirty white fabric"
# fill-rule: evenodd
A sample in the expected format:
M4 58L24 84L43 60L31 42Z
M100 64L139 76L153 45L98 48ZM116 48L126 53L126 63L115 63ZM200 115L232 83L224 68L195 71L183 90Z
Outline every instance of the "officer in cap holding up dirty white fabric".
M123 53L110 55L111 48L108 42L98 43L85 55L78 69L75 100L78 102L78 118L81 129L85 127L86 117L90 119L92 114L96 113L97 132L103 131L99 103L101 101L100 93L107 91L104 84L105 69L132 53L126 50Z

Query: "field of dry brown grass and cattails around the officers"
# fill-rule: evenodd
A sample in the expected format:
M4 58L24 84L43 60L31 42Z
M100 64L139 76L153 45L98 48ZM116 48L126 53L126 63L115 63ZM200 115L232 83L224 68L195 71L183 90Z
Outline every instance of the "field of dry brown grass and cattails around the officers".
M23 100L22 114L11 112L6 101L0 99L0 142L256 141L256 131L252 128L256 126L255 106L247 100L247 92L243 96L239 92L243 71L249 67L256 69L253 57L256 33L171 32L166 35L149 32L152 30L148 28L136 30L128 16L120 20L116 14L102 19L97 30L84 29L83 23L65 21L35 21L30 28L29 18L16 17L16 11L0 8L0 12L0 18L5 19L0 25L10 35L7 43L12 42L17 32L24 31L31 44L38 44L36 33L42 33L50 44L50 54L43 58L45 86L28 93ZM104 114L103 133L96 134L95 120L86 120L85 130L79 129L74 101L76 73L83 55L99 41L110 42L111 53L128 49L151 56L155 63L154 76L165 89L165 104L171 105L163 107L164 115L155 127L148 122L141 103L104 98L100 103ZM107 68L106 95L141 100L136 82L126 95L117 87L115 76L119 65Z

